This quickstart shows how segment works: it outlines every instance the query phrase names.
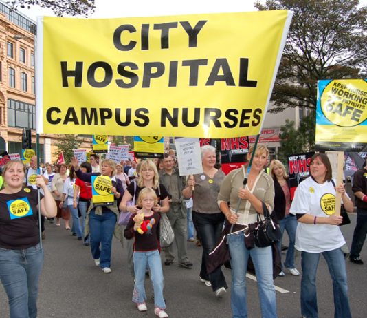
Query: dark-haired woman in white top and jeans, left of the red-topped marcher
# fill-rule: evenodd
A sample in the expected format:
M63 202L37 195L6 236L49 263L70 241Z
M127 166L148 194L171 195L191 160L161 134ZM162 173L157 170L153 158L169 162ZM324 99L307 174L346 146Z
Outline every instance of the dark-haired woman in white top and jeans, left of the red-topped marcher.
M78 210L74 207L74 187L76 182L76 173L74 171L74 167L70 167L69 177L65 180L64 189L63 189L63 198L60 202L60 208L63 207L64 202L66 201L67 209L69 209L71 213L71 218L73 218L73 224L71 226L71 233L73 236L78 236L78 240L82 240L82 226L80 226Z

